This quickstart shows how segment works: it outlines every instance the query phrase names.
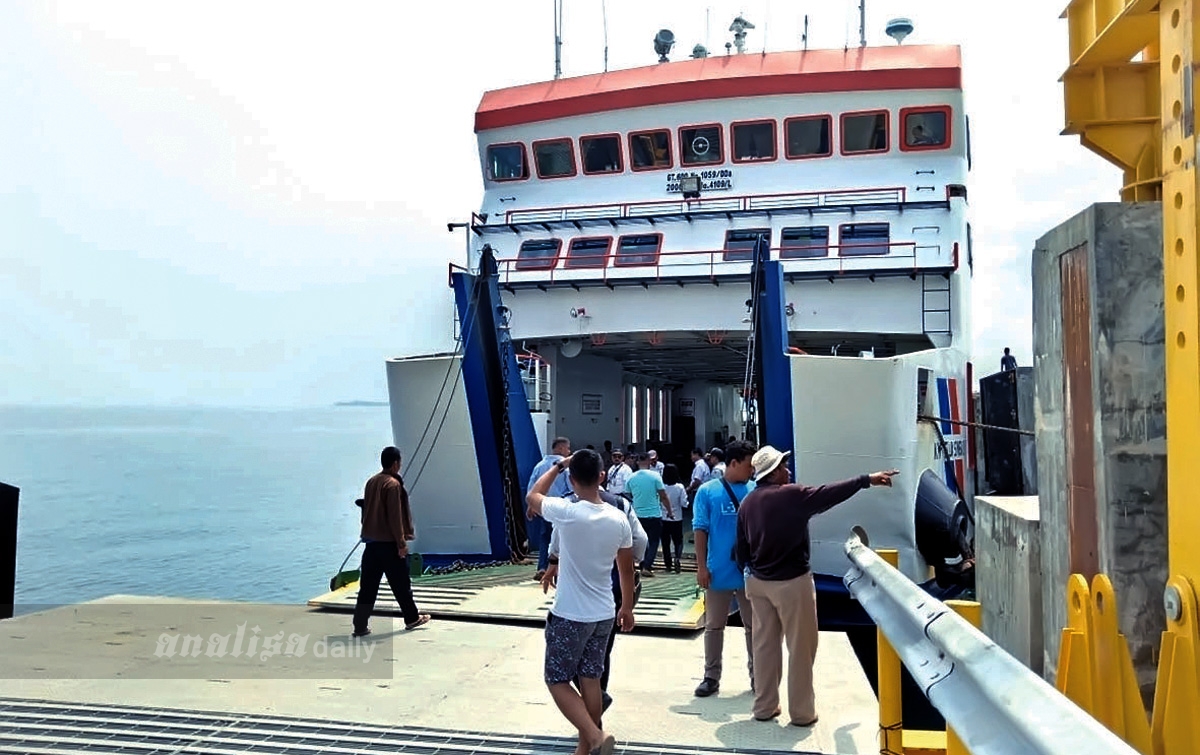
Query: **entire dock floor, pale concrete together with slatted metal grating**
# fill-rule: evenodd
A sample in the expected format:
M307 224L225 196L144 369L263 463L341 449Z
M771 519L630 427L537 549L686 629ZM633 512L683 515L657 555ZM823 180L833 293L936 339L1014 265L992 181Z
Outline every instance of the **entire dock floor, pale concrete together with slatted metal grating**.
M332 661L314 653L258 664L156 655L163 633L208 637L235 624L354 646L348 617L305 606L110 597L18 616L0 622L0 753L574 749L542 685L544 641L532 627L434 621L404 631L398 619L376 617L361 647L379 654L356 672L362 678L332 673ZM745 648L730 640L720 694L697 699L702 633L618 639L616 702L605 715L618 753L877 751L875 696L844 635L822 633L821 720L811 729L750 718Z

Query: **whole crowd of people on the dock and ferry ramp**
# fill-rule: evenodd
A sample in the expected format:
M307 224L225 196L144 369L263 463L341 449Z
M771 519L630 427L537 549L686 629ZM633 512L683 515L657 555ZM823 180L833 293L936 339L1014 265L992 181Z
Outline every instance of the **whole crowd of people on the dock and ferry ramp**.
M604 451L571 450L554 438L528 481L526 516L535 579L553 604L546 617L544 681L556 706L578 732L576 755L611 755L614 738L602 727L612 705L608 677L613 642L636 623L642 579L655 575L661 545L666 571L680 573L685 517L695 538L696 582L704 591L703 672L697 697L718 694L725 628L736 609L746 643L751 715L782 714L786 673L788 723L817 721L812 664L817 649L816 588L809 564L809 521L871 486L890 486L896 471L840 483L792 484L791 451L757 448L731 438L722 448L691 451L684 475L654 450L629 453L606 442ZM430 621L420 613L408 577L408 543L415 538L401 457L384 449L383 471L362 499L367 550L354 635L370 633L367 618L380 579L404 616L406 629Z

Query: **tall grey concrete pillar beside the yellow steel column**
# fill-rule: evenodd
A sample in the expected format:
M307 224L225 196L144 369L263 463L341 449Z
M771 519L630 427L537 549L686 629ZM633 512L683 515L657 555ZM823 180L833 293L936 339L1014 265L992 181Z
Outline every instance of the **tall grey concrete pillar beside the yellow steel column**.
M1165 625L1166 465L1162 212L1157 203L1097 204L1033 250L1034 414L1042 514L1045 673L1054 677L1069 573L1061 257L1084 246L1091 298L1094 484L1099 568L1116 588L1142 695L1153 693Z

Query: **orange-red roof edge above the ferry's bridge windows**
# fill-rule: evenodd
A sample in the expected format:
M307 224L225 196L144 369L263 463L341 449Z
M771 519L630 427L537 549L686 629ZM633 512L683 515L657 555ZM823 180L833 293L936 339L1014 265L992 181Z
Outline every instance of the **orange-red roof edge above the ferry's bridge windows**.
M961 88L956 46L715 55L488 91L475 131L725 97Z

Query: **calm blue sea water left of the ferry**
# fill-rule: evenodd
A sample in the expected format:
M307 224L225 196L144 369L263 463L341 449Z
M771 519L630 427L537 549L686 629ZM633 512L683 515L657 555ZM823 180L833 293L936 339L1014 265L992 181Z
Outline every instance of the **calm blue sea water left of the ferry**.
M385 407L0 408L18 611L114 593L304 603L354 545L354 499L390 443Z

